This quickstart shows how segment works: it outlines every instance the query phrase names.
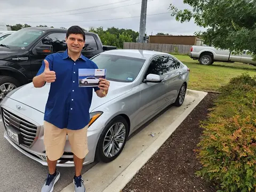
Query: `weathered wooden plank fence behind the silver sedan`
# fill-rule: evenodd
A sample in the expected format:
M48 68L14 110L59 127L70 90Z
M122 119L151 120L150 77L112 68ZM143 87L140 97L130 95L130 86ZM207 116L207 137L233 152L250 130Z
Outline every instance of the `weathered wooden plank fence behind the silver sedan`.
M191 45L124 42L124 49L151 50L165 53L188 54L190 53L190 48Z

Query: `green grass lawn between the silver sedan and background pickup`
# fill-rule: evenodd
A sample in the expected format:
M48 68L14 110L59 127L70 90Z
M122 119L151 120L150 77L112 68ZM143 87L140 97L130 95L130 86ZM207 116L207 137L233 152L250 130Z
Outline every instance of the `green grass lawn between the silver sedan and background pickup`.
M190 69L188 89L198 91L218 91L229 82L230 78L243 73L256 75L256 67L243 63L214 62L211 66L200 65L187 55L174 55Z

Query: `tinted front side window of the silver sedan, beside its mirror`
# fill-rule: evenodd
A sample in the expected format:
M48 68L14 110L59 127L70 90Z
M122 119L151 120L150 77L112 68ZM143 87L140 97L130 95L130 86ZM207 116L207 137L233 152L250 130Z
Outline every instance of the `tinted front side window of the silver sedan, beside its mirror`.
M147 77L148 74L163 75L168 72L170 72L169 57L166 57L166 56L156 57L151 61L145 78Z

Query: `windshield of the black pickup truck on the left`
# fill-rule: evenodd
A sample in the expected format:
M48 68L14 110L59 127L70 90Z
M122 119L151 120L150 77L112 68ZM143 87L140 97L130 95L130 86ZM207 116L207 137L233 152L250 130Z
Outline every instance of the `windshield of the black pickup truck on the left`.
M26 47L43 33L43 30L38 29L21 29L4 38L1 44L14 48Z

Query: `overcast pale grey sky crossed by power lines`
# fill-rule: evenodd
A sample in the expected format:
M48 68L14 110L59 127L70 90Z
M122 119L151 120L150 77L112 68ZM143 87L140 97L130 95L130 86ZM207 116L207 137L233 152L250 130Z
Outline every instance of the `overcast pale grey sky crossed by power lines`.
M193 21L182 24L175 21L167 13L170 3L179 9L190 8L182 0L148 0L148 35L193 35L195 31L204 30ZM2 0L0 6L0 22L6 25L27 23L66 28L79 25L85 29L103 26L104 29L117 27L139 31L141 0Z

